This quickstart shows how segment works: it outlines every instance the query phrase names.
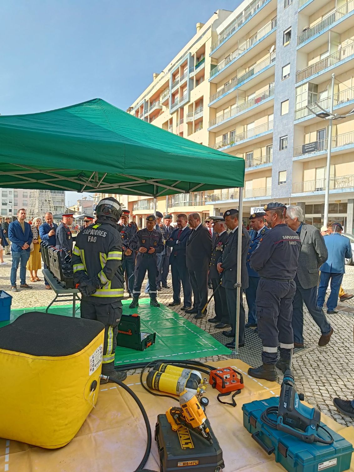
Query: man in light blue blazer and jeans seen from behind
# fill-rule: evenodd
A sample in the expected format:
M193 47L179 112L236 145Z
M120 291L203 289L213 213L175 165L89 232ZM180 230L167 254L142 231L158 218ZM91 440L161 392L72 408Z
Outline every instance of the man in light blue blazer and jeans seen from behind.
M343 227L340 223L333 223L332 234L324 236L324 241L328 250L328 259L321 267L320 287L318 289L317 304L322 308L326 290L331 282L331 293L327 300L327 313L335 314L338 302L340 284L345 273L345 258L351 259L352 247L349 238L342 236Z

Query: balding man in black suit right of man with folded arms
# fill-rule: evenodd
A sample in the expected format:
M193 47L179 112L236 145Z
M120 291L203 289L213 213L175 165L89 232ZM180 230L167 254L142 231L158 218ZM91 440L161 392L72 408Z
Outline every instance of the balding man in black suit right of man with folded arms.
M186 313L195 313L194 318L200 320L206 315L202 309L208 301L208 270L211 261L211 236L202 225L199 213L191 213L188 223L192 231L185 246L185 261L191 279L194 295L193 308Z

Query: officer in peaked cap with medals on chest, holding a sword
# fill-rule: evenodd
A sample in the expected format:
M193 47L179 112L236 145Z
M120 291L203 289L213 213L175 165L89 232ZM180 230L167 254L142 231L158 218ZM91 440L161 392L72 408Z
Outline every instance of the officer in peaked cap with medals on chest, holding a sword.
M226 291L220 282L220 274L218 272L218 261L220 254L224 250L224 244L228 240L228 232L225 219L223 216L214 216L213 233L215 234L215 242L211 248L211 262L209 268L209 276L211 279L212 290L214 292L214 318L210 318L210 323L216 323L215 328L225 329L230 327L230 319L228 316L228 303L226 300ZM219 287L219 288L218 288ZM218 288L218 289L217 289Z

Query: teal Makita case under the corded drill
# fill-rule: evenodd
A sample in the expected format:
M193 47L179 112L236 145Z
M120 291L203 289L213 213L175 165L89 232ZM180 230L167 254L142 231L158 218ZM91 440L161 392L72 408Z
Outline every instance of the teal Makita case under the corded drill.
M330 445L308 444L283 431L278 431L261 421L261 414L269 406L278 406L279 398L256 400L242 407L244 427L267 454L274 453L275 461L289 472L341 472L350 467L353 446L324 423L320 423L333 436ZM321 437L328 435L321 430ZM258 447L254 443L254 447Z

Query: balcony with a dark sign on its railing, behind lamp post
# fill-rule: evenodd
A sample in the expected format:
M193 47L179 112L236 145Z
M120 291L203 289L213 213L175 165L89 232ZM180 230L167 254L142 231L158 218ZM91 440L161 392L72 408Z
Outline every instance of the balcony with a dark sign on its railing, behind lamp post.
M353 152L354 148L354 131L344 133L342 135L332 136L331 154L343 154L346 152ZM307 150L313 150L308 152ZM293 160L312 160L319 156L327 154L328 138L320 141L313 141L312 143L302 144L294 147Z

